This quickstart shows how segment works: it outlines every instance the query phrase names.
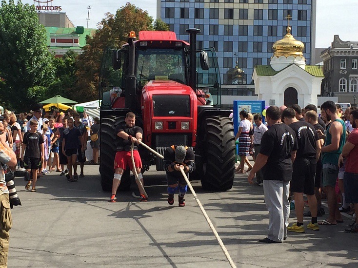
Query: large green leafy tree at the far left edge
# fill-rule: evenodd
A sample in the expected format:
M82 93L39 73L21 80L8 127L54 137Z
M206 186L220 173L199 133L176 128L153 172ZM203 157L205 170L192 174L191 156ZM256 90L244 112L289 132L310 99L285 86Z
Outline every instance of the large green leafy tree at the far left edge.
M1 1L0 48L0 77L5 81L1 101L18 112L28 110L45 93L55 71L33 5Z

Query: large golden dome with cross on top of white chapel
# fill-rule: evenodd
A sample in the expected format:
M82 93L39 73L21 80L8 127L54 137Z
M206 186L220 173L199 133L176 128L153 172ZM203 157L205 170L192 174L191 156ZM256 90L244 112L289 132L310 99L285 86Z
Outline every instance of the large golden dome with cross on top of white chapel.
M290 26L286 28L286 31L286 35L272 45L274 57L303 57L304 44L291 35Z

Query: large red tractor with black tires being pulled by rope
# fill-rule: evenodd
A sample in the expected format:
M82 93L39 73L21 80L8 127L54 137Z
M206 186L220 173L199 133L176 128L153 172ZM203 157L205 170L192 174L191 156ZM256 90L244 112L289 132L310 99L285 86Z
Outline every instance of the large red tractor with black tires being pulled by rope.
M214 49L196 49L199 29L188 29L189 43L174 32L141 31L139 40L131 32L120 50L103 55L99 98L101 186L112 189L116 154L115 128L128 112L136 114L143 142L158 153L173 144L192 147L196 171L190 179L202 188L226 191L232 188L235 169L235 136L230 111L220 109L221 89ZM143 171L162 160L139 147ZM124 172L122 189L131 184Z

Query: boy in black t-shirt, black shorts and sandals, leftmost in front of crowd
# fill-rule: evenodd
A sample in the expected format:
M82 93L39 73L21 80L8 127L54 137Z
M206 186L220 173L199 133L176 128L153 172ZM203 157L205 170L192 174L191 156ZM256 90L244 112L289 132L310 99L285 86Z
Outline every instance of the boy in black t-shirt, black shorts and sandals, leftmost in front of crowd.
M36 120L30 120L30 130L23 135L21 160L24 161L27 172L32 172L32 192L36 191L36 181L38 170L41 167L41 160L44 160L43 137L37 131L39 123ZM26 152L25 152L26 149ZM25 152L25 155L24 155ZM32 181L29 180L25 186L26 190L30 189Z

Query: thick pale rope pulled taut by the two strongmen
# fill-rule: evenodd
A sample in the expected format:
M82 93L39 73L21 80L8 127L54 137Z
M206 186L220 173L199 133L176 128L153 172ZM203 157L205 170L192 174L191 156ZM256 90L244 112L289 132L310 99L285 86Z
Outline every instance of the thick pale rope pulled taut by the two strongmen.
M149 151L151 151L152 153L154 153L154 154L156 154L157 156L159 156L161 159L164 158L163 155L161 155L160 153L154 151L152 148L150 148L150 147L147 146L146 144L142 143L141 141L139 141L139 144L142 145L142 146L144 146L145 148L147 148L147 149L148 149ZM133 144L132 144L132 147L133 147ZM132 154L132 155L133 155L133 154ZM132 159L133 159L133 157L132 157ZM132 161L134 161L134 159L133 159ZM224 243L222 242L222 240L221 240L221 238L220 238L218 232L216 231L216 229L215 229L213 223L211 222L211 220L210 220L208 214L206 213L206 211L204 210L203 206L201 205L201 202L200 202L200 200L199 200L199 198L198 198L196 192L194 191L194 189L193 189L193 187L192 187L192 185L191 185L191 183L190 183L188 177L186 176L186 174L185 174L185 172L183 171L182 168L180 168L180 172L181 172L181 174L183 175L183 177L184 177L184 179L185 179L185 181L186 181L186 184L189 186L190 191L191 191L192 194L194 195L195 201L197 201L197 204L199 205L200 211L203 213L203 215L204 215L204 217L205 217L207 223L209 224L210 229L213 231L213 233L214 233L214 235L215 235L215 238L218 240L219 245L220 245L222 251L224 252L224 254L225 254L225 256L226 256L226 259L229 261L229 263L230 263L230 265L231 265L232 268L236 268L236 265L234 264L234 261L231 259L229 252L227 251L227 249L226 249Z

